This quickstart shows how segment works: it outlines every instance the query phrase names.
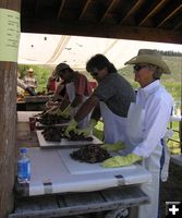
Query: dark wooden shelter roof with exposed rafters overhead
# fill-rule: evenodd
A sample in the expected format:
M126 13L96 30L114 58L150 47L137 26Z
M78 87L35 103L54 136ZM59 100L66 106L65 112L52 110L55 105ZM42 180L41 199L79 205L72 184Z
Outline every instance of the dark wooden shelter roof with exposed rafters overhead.
M22 33L182 44L181 0L22 0Z

